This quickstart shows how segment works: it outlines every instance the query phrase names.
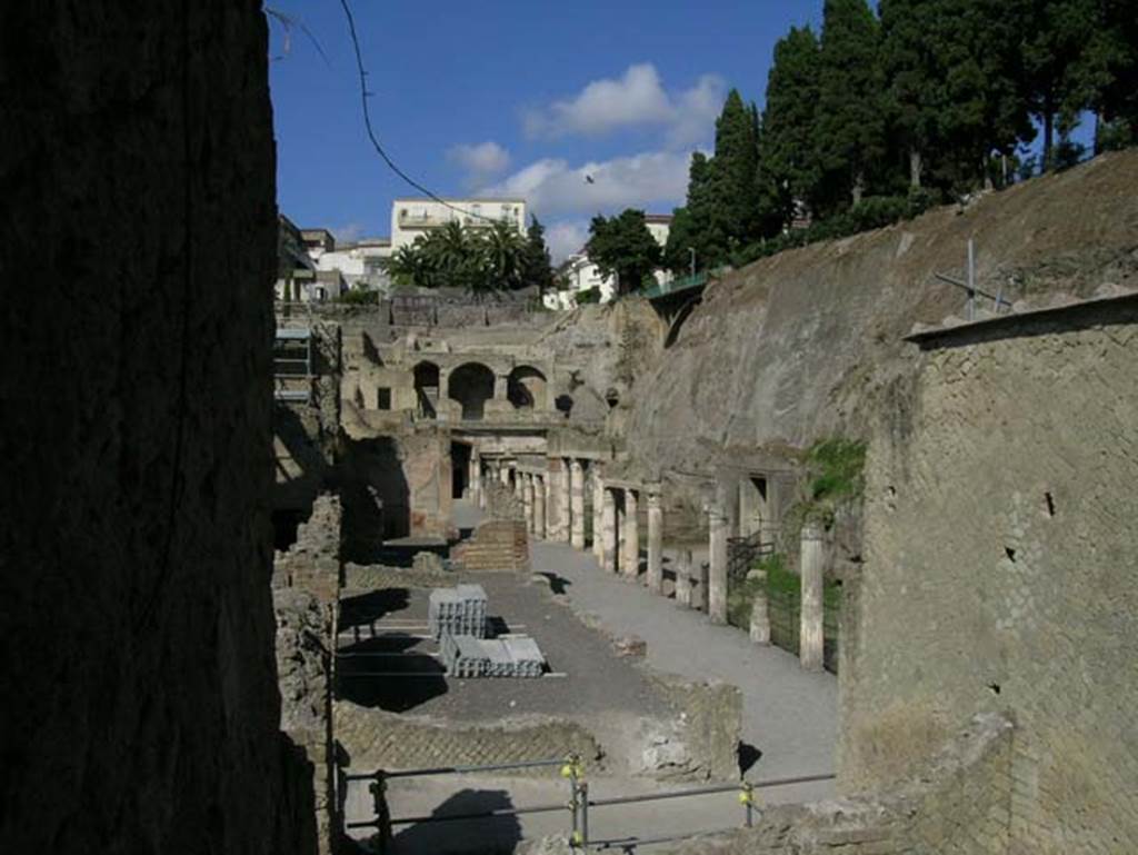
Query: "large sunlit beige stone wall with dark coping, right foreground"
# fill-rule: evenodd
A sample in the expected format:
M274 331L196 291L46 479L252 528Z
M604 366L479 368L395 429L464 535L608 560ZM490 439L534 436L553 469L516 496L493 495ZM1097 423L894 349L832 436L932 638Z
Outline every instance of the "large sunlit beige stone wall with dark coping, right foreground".
M926 343L871 447L841 782L1016 722L1011 853L1138 847L1138 299Z

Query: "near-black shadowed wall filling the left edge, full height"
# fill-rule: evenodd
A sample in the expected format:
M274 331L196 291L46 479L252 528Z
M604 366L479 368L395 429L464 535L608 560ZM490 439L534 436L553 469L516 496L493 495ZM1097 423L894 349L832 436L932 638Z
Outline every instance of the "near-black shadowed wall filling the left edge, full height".
M0 7L0 840L298 853L259 2ZM223 263L220 263L223 262Z

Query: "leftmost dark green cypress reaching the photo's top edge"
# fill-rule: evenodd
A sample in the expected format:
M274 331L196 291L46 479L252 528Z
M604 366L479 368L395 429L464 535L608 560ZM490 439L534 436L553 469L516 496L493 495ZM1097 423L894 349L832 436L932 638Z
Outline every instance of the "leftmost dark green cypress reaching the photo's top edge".
M866 0L826 0L814 148L833 207L847 195L860 202L885 156L883 90L880 26Z

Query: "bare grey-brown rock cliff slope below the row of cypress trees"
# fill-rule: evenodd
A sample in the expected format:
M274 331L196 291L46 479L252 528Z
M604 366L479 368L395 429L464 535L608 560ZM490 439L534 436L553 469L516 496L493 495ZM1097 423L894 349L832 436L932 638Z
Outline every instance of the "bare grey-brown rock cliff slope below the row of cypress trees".
M1138 286L1138 151L765 258L710 285L675 343L635 381L634 466L703 468L733 450L864 434L917 361L914 323L963 314L976 281L1012 301ZM990 309L990 301L980 305Z

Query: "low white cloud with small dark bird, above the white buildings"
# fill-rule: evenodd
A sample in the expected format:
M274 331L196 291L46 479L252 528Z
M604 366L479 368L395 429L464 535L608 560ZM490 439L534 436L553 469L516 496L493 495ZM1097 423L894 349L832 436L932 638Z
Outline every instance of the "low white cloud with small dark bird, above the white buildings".
M612 213L626 207L665 213L683 204L688 157L678 151L646 151L580 166L544 158L480 192L520 196L539 217Z

